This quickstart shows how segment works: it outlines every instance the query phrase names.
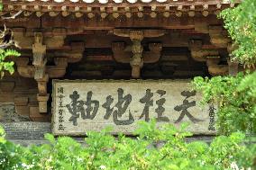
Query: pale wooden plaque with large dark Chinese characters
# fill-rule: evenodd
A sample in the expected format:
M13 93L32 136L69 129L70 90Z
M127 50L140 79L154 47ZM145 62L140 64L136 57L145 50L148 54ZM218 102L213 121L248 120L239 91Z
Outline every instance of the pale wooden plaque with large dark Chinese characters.
M107 126L114 134L132 134L138 121L152 118L159 125L189 122L195 134L215 134L215 109L199 107L200 95L189 80L54 80L52 97L55 135L85 135Z

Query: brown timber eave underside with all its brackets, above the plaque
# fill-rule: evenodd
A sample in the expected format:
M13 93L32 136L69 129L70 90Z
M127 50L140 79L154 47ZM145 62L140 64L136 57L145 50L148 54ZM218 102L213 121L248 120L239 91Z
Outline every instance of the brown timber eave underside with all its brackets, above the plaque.
M63 9L54 2L8 2L0 22L14 32L22 56L14 76L1 80L0 102L15 103L32 121L49 121L54 78L192 78L237 67L229 60L232 40L216 17L235 4L68 3Z

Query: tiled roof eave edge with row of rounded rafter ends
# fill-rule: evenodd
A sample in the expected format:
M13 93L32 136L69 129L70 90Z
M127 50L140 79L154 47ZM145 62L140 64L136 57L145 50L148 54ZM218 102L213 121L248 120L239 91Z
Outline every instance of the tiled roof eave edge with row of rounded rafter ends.
M132 17L132 13L141 18L143 14L149 14L151 18L155 18L158 13L162 13L164 17L169 17L170 14L174 14L178 17L182 13L188 13L190 17L201 13L207 16L209 13L218 13L227 7L233 7L239 4L238 0L234 3L226 2L223 0L168 0L164 3L160 3L160 0L151 1L149 3L129 3L129 0L122 3L114 3L114 1L106 4L101 4L100 0L94 3L85 3L78 1L77 3L70 3L64 1L62 3L56 3L54 1L10 1L4 0L4 9L1 13L15 13L23 11L23 15L29 16L35 13L38 17L45 13L49 13L51 17L58 16L61 13L62 16L69 16L70 13L74 13L77 18L87 15L89 19L99 14L102 18L105 18L108 14L112 14L114 18L118 18L121 14L124 14L127 18Z

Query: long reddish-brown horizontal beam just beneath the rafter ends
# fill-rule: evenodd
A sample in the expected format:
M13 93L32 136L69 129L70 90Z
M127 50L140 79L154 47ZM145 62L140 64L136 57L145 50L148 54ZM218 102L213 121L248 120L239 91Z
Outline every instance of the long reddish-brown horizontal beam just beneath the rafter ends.
M33 34L33 31L43 31L45 37L51 36L66 36L73 34L87 34L87 31L93 30L108 30L114 28L154 28L154 29L178 29L187 30L197 28L198 22L204 22L206 25L220 25L223 22L218 20L214 14L209 14L207 17L144 17L144 18L123 18L123 20L102 20L99 17L94 17L88 20L85 17L74 18L71 15L67 17L50 17L42 15L41 20L36 16L28 18L16 18L14 20L1 21L0 24L6 24L9 28L25 28L26 34ZM58 30L58 28L61 28Z

